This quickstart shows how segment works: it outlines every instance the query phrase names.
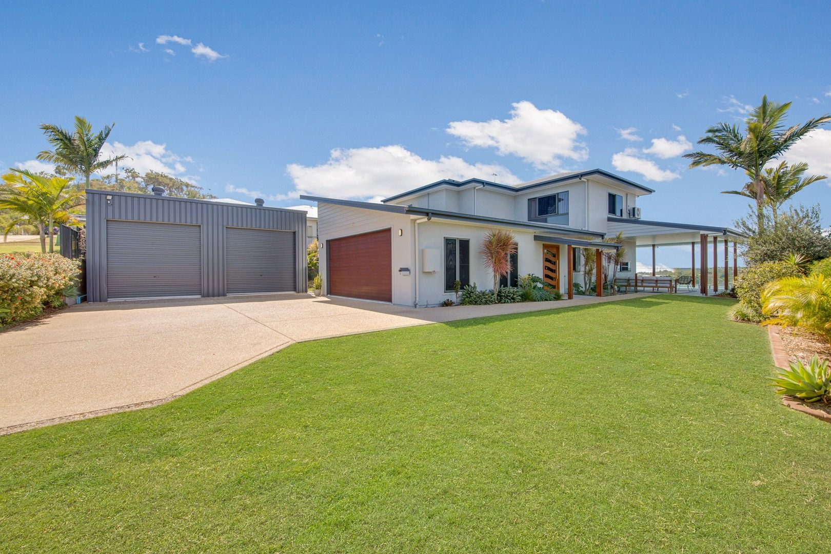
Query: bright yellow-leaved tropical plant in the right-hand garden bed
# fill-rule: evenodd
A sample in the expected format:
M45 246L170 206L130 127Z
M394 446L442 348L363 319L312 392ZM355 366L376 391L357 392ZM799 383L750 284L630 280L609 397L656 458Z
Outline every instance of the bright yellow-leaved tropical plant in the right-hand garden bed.
M765 287L761 303L766 325L801 327L831 342L831 277L784 277Z

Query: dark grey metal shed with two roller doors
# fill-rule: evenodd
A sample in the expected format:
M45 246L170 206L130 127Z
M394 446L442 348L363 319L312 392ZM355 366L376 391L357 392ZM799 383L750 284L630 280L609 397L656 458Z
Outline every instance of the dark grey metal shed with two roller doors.
M86 191L90 302L306 292L306 213Z

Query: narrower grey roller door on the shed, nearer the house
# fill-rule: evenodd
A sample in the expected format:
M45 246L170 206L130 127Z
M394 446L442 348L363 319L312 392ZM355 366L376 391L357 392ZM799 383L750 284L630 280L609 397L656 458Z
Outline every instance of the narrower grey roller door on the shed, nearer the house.
M225 293L296 292L293 231L225 229Z

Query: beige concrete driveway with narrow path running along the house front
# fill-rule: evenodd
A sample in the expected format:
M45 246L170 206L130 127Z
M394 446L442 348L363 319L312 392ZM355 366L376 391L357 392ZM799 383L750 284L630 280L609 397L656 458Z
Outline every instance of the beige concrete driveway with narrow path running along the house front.
M81 304L0 333L0 434L161 404L297 341L645 296L421 309L307 294Z

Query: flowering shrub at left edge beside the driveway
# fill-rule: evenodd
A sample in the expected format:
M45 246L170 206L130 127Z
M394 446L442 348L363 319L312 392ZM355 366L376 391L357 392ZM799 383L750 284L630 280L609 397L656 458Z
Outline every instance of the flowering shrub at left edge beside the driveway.
M0 325L57 307L76 286L79 263L60 254L22 252L0 256Z

